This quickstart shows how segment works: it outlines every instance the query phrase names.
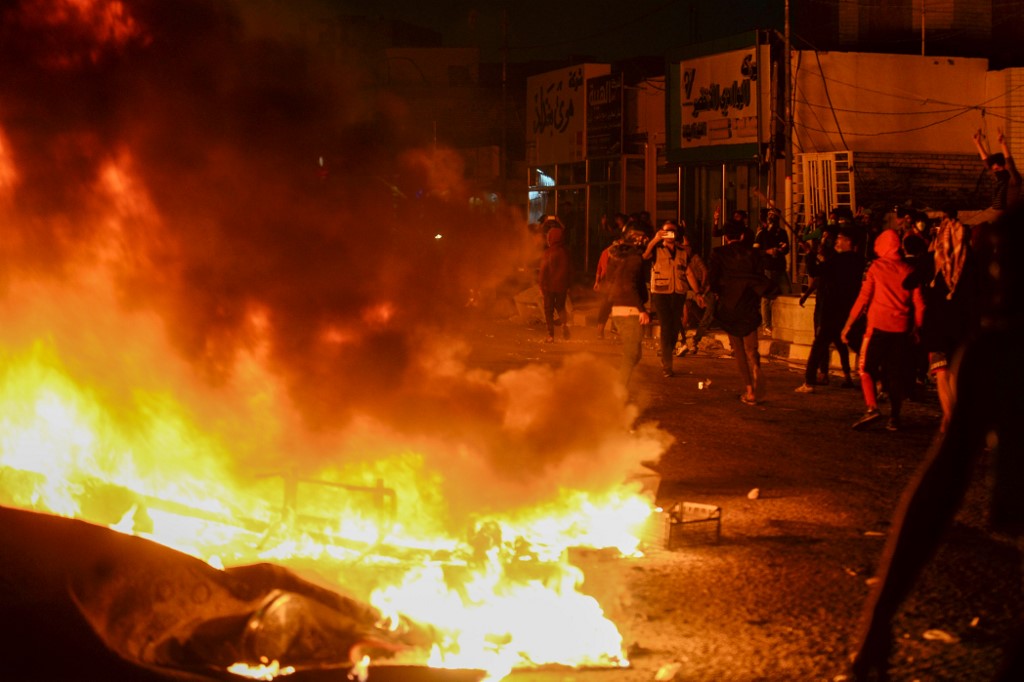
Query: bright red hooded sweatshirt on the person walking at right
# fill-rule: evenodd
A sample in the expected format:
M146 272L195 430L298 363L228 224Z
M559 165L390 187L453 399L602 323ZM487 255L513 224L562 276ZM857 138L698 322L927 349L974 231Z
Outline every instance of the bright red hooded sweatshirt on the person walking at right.
M909 332L920 329L925 317L925 299L921 287L907 290L903 282L913 268L903 260L899 252L899 233L887 229L874 240L878 254L864 276L847 326L867 309L867 331Z

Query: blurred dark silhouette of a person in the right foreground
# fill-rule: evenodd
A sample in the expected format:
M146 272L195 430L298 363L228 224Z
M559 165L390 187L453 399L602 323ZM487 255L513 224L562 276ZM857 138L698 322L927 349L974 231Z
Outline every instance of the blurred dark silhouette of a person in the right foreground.
M935 556L978 467L985 467L990 477L989 526L1015 543L1018 556L1024 557L1024 364L1019 359L1024 286L1016 267L1024 204L985 227L973 241L978 245L977 297L966 337L950 358L954 390L949 419L893 517L851 656L849 679L854 682L889 679L896 641L893 620ZM946 269L943 280L952 283L955 262L940 265ZM961 276L963 271L956 279ZM997 682L1024 679L1024 631L1008 640L1001 670L991 678Z

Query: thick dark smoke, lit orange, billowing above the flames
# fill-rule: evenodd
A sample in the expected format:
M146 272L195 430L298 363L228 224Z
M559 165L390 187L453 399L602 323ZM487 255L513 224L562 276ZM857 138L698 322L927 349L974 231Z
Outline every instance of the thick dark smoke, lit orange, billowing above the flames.
M258 329L311 431L369 419L522 483L625 433L593 361L463 366L468 292L518 264L521 218L471 211L458 156L417 139L417 112L370 75L247 26L218 0L5 6L4 282L100 257L114 163L146 198L124 212L121 303L159 315L209 385Z

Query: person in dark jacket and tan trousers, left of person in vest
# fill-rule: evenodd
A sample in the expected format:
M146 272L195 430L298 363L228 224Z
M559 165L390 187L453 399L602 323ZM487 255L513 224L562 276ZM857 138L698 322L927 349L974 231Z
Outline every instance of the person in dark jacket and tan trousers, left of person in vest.
M650 324L647 314L647 267L643 252L647 237L639 226L628 227L623 239L608 251L606 283L611 319L623 342L620 381L628 386L633 368L643 352L643 328Z

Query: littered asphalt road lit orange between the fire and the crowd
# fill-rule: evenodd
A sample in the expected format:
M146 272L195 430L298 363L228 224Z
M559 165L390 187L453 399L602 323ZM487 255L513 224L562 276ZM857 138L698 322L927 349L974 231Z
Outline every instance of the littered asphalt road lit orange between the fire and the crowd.
M591 329L573 332L549 344L541 328L481 321L472 360L495 372L557 365L580 352L617 364L614 341ZM857 389L834 381L814 394L795 393L802 375L769 360L768 398L749 407L721 344L706 340L697 355L677 358L671 379L652 348L631 392L638 422L656 422L676 438L656 465L658 502L721 507L721 538L694 529L669 550L655 535L642 558L583 559L588 584L625 635L631 668L513 678L843 679L893 512L936 434L935 391L905 404L899 432L881 422L854 431L863 411ZM1021 625L1020 558L987 528L987 476L979 467L894 622L893 680L994 679Z

